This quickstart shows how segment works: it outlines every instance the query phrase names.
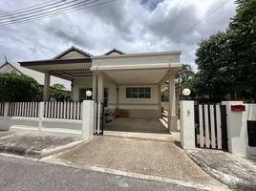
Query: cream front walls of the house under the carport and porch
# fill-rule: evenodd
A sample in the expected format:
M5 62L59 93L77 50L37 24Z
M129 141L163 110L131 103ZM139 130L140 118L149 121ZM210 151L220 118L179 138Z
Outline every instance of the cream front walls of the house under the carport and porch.
M93 77L76 77L73 81L72 99L78 101L79 89L92 88L92 85ZM108 109L114 110L117 108L117 85L105 80L104 87L108 89ZM126 87L150 87L151 98L126 98ZM159 117L158 85L119 85L118 108L129 110L130 117Z

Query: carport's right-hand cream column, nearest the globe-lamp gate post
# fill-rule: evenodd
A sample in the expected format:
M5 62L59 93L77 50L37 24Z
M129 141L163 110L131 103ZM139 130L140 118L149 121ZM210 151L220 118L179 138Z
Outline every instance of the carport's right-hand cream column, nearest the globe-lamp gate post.
M170 132L177 131L177 116L175 104L175 78L174 74L169 77L169 114L168 114L168 129Z

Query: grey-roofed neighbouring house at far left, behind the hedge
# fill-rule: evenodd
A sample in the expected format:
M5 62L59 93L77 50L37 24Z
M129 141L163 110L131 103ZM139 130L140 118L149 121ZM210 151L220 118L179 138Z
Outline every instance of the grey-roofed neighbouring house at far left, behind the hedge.
M30 69L21 67L19 64L10 63L6 60L2 66L0 66L1 73L11 73L11 74L26 74L34 78L40 85L44 85L44 74L32 71ZM55 76L51 77L51 86L55 83L63 84L66 87L66 90L71 90L71 83L68 80L64 80Z

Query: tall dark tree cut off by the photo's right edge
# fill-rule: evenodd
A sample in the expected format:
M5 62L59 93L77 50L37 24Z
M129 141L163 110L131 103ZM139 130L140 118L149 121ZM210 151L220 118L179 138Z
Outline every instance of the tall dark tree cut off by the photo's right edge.
M236 3L237 13L229 25L234 35L235 74L242 94L256 100L256 1Z

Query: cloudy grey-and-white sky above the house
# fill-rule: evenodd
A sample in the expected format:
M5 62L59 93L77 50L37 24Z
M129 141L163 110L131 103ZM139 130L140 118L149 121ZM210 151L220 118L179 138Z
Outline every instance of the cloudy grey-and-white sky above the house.
M7 12L47 1L1 0L0 18ZM0 64L4 63L5 55L14 63L48 59L75 46L94 55L113 48L124 53L181 51L181 63L190 64L196 71L195 52L200 40L225 31L235 14L232 0L215 11L224 2L116 0L10 27L0 24ZM212 11L215 12L205 17Z

